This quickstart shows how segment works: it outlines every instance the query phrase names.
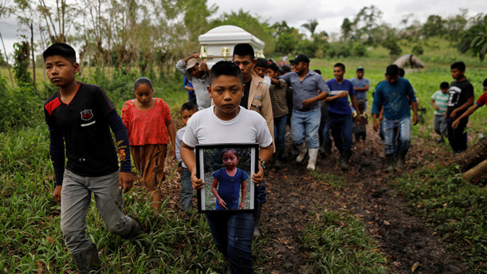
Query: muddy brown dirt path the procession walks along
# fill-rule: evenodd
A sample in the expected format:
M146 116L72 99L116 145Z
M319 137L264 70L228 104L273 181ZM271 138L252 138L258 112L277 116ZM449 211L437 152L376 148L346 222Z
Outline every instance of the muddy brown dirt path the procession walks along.
M289 132L287 133L289 135ZM426 227L420 218L410 216L408 204L388 184L401 177L404 172L415 172L431 159L449 156L445 147L436 143L436 135L423 139L413 136L406 157L406 170L385 173L383 143L378 134L367 129L368 149L366 155L354 151L349 170L339 167L339 154L333 147L333 154L322 159L318 157L317 168L337 177L344 177L344 187L335 188L328 182L319 181L306 170L307 158L303 163L294 161L289 149L282 168L269 164L265 170L268 202L264 204L261 231L268 243L260 252L266 259L256 264L264 273L310 273L306 250L300 245L301 230L312 220L311 213L316 206L328 211L346 211L363 220L370 236L376 239L378 248L387 258L390 273L467 273L461 259L443 248L434 230ZM166 168L170 168L171 163ZM179 179L176 180L179 182ZM177 186L166 188L166 198L173 196L173 207L179 206ZM177 193L174 193L176 191ZM262 270L263 269L263 270Z

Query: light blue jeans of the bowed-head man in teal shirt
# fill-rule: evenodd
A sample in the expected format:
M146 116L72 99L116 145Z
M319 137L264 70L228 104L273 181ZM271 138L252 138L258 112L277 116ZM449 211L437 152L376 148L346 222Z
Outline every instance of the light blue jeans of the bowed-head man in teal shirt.
M394 128L398 128L398 131L394 131ZM384 147L385 154L394 154L397 151L398 144L395 141L401 138L400 150L409 150L411 143L411 118L406 116L404 118L389 120L385 118L382 120L382 128L384 131ZM394 134L394 132L397 132Z

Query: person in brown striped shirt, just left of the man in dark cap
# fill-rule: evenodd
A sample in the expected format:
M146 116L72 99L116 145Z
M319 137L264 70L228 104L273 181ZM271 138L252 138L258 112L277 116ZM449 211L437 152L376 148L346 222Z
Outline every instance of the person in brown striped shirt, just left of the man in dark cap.
M281 161L285 156L284 138L286 134L287 124L287 101L286 101L286 81L278 79L279 67L275 63L271 63L267 68L266 76L271 79L271 86L269 87L269 95L271 95L272 115L274 118L274 138L276 138L276 161L274 166L281 168Z

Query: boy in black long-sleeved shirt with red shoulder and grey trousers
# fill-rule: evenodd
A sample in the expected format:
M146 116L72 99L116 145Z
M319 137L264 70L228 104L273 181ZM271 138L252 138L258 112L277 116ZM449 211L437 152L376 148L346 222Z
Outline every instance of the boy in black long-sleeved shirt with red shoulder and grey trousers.
M51 45L42 57L49 81L59 88L44 104L56 178L52 197L61 204L61 231L67 249L79 273L88 274L100 268L97 246L86 236L91 193L109 232L123 239L140 234L138 220L123 211L122 188L127 193L134 182L129 137L104 90L76 80L79 64L70 45ZM117 141L120 169L110 129Z

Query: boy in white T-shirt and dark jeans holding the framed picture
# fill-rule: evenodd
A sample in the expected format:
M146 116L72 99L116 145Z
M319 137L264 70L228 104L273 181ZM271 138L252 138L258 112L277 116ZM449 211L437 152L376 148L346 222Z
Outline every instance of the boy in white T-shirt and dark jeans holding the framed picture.
M191 172L193 188L203 187L196 174L194 147L198 144L259 143L259 167L253 183L262 184L266 161L274 148L266 120L256 111L239 106L244 95L244 78L232 62L220 61L211 67L209 97L214 106L198 111L188 121L181 144L181 156ZM214 243L230 261L232 273L253 273L252 238L255 213L206 213Z

